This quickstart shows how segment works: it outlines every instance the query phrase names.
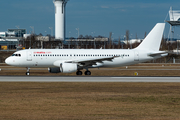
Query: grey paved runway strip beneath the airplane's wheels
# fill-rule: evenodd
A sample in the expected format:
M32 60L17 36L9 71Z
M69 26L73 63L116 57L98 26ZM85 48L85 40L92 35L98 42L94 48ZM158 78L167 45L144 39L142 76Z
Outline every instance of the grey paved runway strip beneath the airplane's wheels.
M180 77L0 76L0 82L177 82L180 83Z

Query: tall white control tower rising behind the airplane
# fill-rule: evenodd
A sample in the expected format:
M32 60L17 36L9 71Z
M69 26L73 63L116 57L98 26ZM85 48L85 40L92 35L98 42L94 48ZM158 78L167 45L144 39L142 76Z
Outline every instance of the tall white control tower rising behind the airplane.
M55 39L65 40L65 7L69 0L54 0Z

